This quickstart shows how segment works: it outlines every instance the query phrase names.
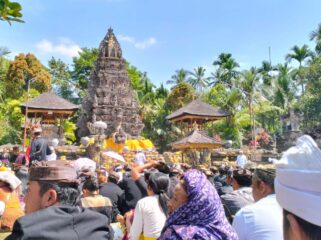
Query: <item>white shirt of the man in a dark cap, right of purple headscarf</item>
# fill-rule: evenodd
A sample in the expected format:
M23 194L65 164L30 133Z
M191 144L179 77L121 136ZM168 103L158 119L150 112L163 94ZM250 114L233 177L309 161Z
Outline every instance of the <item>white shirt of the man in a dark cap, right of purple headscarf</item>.
M233 227L239 240L282 240L283 214L275 194L239 210Z

